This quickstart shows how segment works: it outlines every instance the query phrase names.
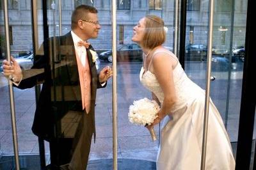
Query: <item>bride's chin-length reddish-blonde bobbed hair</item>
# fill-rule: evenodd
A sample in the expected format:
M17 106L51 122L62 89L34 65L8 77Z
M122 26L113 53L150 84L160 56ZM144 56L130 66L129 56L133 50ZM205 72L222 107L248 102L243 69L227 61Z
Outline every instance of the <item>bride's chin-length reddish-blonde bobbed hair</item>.
M141 45L148 49L162 45L166 39L164 21L156 15L146 15L144 24L145 35Z

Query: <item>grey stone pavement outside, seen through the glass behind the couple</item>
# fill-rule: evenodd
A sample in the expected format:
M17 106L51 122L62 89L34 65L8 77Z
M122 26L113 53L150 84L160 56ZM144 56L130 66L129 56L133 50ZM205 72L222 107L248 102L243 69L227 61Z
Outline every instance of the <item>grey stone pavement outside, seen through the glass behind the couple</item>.
M140 63L118 65L118 158L120 160L138 159L154 162L157 157L158 140L153 142L147 128L132 125L127 116L129 105L134 100L150 98L150 93L143 88L138 78L140 66ZM193 70L189 71L191 68ZM186 71L193 81L204 88L205 72L200 70L202 68L204 68L202 63L191 63ZM228 118L227 130L232 142L237 140L242 83L242 70L234 71L236 72L231 73L228 114L225 114L228 94L227 72L214 70L212 75L216 77L216 80L211 83L211 98L221 112L223 121L225 122L225 119ZM0 85L0 153L13 154L9 92L3 77L0 77ZM107 88L97 91L95 110L97 139L95 144L92 143L90 153L92 161L113 158L111 86L112 81L109 81ZM14 88L14 95L19 153L38 153L38 139L31 132L35 112L35 91L33 88L24 90ZM159 127L155 127L155 131L158 134ZM45 143L45 151L49 154L47 143Z

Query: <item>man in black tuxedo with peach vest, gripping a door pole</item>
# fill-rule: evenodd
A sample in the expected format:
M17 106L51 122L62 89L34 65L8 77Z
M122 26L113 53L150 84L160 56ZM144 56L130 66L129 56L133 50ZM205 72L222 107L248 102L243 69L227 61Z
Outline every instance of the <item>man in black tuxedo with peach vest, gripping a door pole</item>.
M95 141L95 98L112 70L95 66L97 55L90 38L97 38L97 10L81 5L72 13L72 31L49 38L49 51L40 48L30 70L11 58L3 72L20 89L43 84L33 121L33 133L49 141L49 169L86 169L92 135ZM47 46L47 45L46 45Z

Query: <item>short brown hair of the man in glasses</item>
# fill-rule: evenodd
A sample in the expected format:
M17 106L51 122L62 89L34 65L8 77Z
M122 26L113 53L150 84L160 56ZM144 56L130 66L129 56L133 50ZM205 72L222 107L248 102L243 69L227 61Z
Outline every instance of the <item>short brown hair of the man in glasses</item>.
M80 19L86 20L87 13L98 13L97 9L93 6L89 6L86 4L82 4L76 7L74 12L72 13L71 17L71 29L74 29L77 27L77 22Z

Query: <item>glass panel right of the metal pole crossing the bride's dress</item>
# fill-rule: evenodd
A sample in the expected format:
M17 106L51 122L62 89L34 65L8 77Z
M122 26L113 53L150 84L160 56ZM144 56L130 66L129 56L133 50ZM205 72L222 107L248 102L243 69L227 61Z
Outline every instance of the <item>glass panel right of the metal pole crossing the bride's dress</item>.
M216 107L220 108L234 153L243 82L246 14L247 1L230 0L215 3L212 59L212 70L215 71L212 75L216 80L212 82L211 94Z

